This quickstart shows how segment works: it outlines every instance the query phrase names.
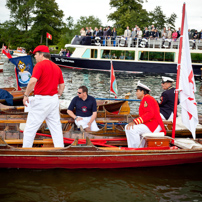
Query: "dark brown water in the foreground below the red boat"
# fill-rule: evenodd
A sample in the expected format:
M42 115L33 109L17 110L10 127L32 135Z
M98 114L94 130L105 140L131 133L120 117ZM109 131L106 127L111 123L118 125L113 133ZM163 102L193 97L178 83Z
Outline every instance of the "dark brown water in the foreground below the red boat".
M0 201L201 201L201 168L1 169Z

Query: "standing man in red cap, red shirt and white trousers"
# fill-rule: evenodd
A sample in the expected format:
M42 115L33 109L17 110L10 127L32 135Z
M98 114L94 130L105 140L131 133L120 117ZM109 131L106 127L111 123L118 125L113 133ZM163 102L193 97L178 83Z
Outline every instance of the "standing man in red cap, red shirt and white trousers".
M62 127L59 115L59 99L65 88L62 71L52 61L47 46L37 46L36 65L24 94L23 104L30 104L30 111L24 130L23 147L32 147L37 130L46 120L55 147L64 147ZM34 89L34 98L29 94Z

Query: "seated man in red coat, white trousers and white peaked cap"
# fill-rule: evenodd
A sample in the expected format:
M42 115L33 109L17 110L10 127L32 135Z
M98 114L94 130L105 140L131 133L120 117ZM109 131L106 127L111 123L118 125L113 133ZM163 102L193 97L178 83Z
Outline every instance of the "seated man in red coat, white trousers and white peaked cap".
M141 100L139 117L125 126L128 148L143 147L140 145L140 135L163 131L166 134L163 121L159 113L157 101L149 95L151 91L146 85L138 81L137 98Z

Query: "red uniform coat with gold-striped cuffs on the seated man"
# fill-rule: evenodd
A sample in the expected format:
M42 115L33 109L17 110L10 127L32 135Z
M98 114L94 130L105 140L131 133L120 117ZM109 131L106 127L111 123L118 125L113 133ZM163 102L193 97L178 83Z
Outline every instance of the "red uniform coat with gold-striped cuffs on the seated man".
M145 95L140 103L139 118L134 119L135 124L145 124L151 132L154 132L158 125L166 134L163 121L160 116L159 105L151 95Z

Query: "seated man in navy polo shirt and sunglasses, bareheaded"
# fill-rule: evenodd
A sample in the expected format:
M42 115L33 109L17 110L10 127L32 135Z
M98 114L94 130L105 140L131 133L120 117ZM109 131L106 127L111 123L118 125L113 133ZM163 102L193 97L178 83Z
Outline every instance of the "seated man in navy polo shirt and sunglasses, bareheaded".
M95 122L97 117L97 103L94 97L88 95L88 88L80 86L78 96L71 101L67 113L75 120L78 127L82 126L85 131L98 131ZM76 115L73 110L76 108Z

